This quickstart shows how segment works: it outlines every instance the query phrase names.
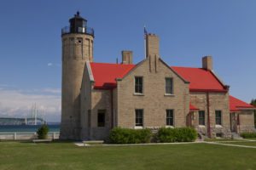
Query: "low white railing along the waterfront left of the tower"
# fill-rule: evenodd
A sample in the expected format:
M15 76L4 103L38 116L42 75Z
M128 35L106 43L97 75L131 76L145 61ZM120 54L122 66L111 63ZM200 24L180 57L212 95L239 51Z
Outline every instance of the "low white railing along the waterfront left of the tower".
M59 139L60 132L49 132L48 139ZM38 139L38 134L33 132L0 133L0 140L30 140Z

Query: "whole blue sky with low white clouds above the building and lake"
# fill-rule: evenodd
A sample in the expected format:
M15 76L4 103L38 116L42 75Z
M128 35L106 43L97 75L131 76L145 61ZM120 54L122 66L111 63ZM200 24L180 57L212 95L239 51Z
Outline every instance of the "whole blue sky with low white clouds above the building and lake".
M132 50L144 58L143 26L160 37L169 65L213 70L230 94L256 99L254 0L1 0L0 117L24 117L37 103L61 121L61 28L78 10L95 31L94 61L114 63Z

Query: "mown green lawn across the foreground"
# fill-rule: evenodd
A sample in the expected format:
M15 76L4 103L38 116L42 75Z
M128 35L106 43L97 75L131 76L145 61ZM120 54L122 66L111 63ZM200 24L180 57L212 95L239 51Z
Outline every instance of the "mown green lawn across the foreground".
M216 144L78 147L0 142L0 169L255 169L255 153Z

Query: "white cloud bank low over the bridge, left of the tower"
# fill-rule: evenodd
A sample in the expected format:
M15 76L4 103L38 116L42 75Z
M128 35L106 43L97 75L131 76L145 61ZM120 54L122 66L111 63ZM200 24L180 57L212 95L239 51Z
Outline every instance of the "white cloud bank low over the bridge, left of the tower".
M45 89L51 94L25 94L20 90L0 89L0 116L26 117L32 111L32 105L37 103L38 109L44 108L47 121L60 121L60 89ZM45 89L42 91L45 92Z

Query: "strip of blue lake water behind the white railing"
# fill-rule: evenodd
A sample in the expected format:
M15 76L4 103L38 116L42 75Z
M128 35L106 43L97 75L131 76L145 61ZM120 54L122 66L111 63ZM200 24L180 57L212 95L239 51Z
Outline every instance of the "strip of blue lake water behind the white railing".
M0 126L1 133L9 132L37 132L41 125L4 125ZM60 124L48 125L49 132L60 132Z

